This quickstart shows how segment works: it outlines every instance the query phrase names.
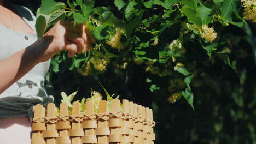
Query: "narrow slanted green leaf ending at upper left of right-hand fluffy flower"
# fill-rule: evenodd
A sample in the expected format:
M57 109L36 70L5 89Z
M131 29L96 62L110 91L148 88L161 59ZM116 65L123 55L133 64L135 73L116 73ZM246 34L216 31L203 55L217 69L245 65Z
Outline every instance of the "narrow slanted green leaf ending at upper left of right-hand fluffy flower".
M188 8L187 6L183 6L181 8L182 13L184 13L195 25L199 28L202 28L202 20L199 16L197 16L195 10Z

